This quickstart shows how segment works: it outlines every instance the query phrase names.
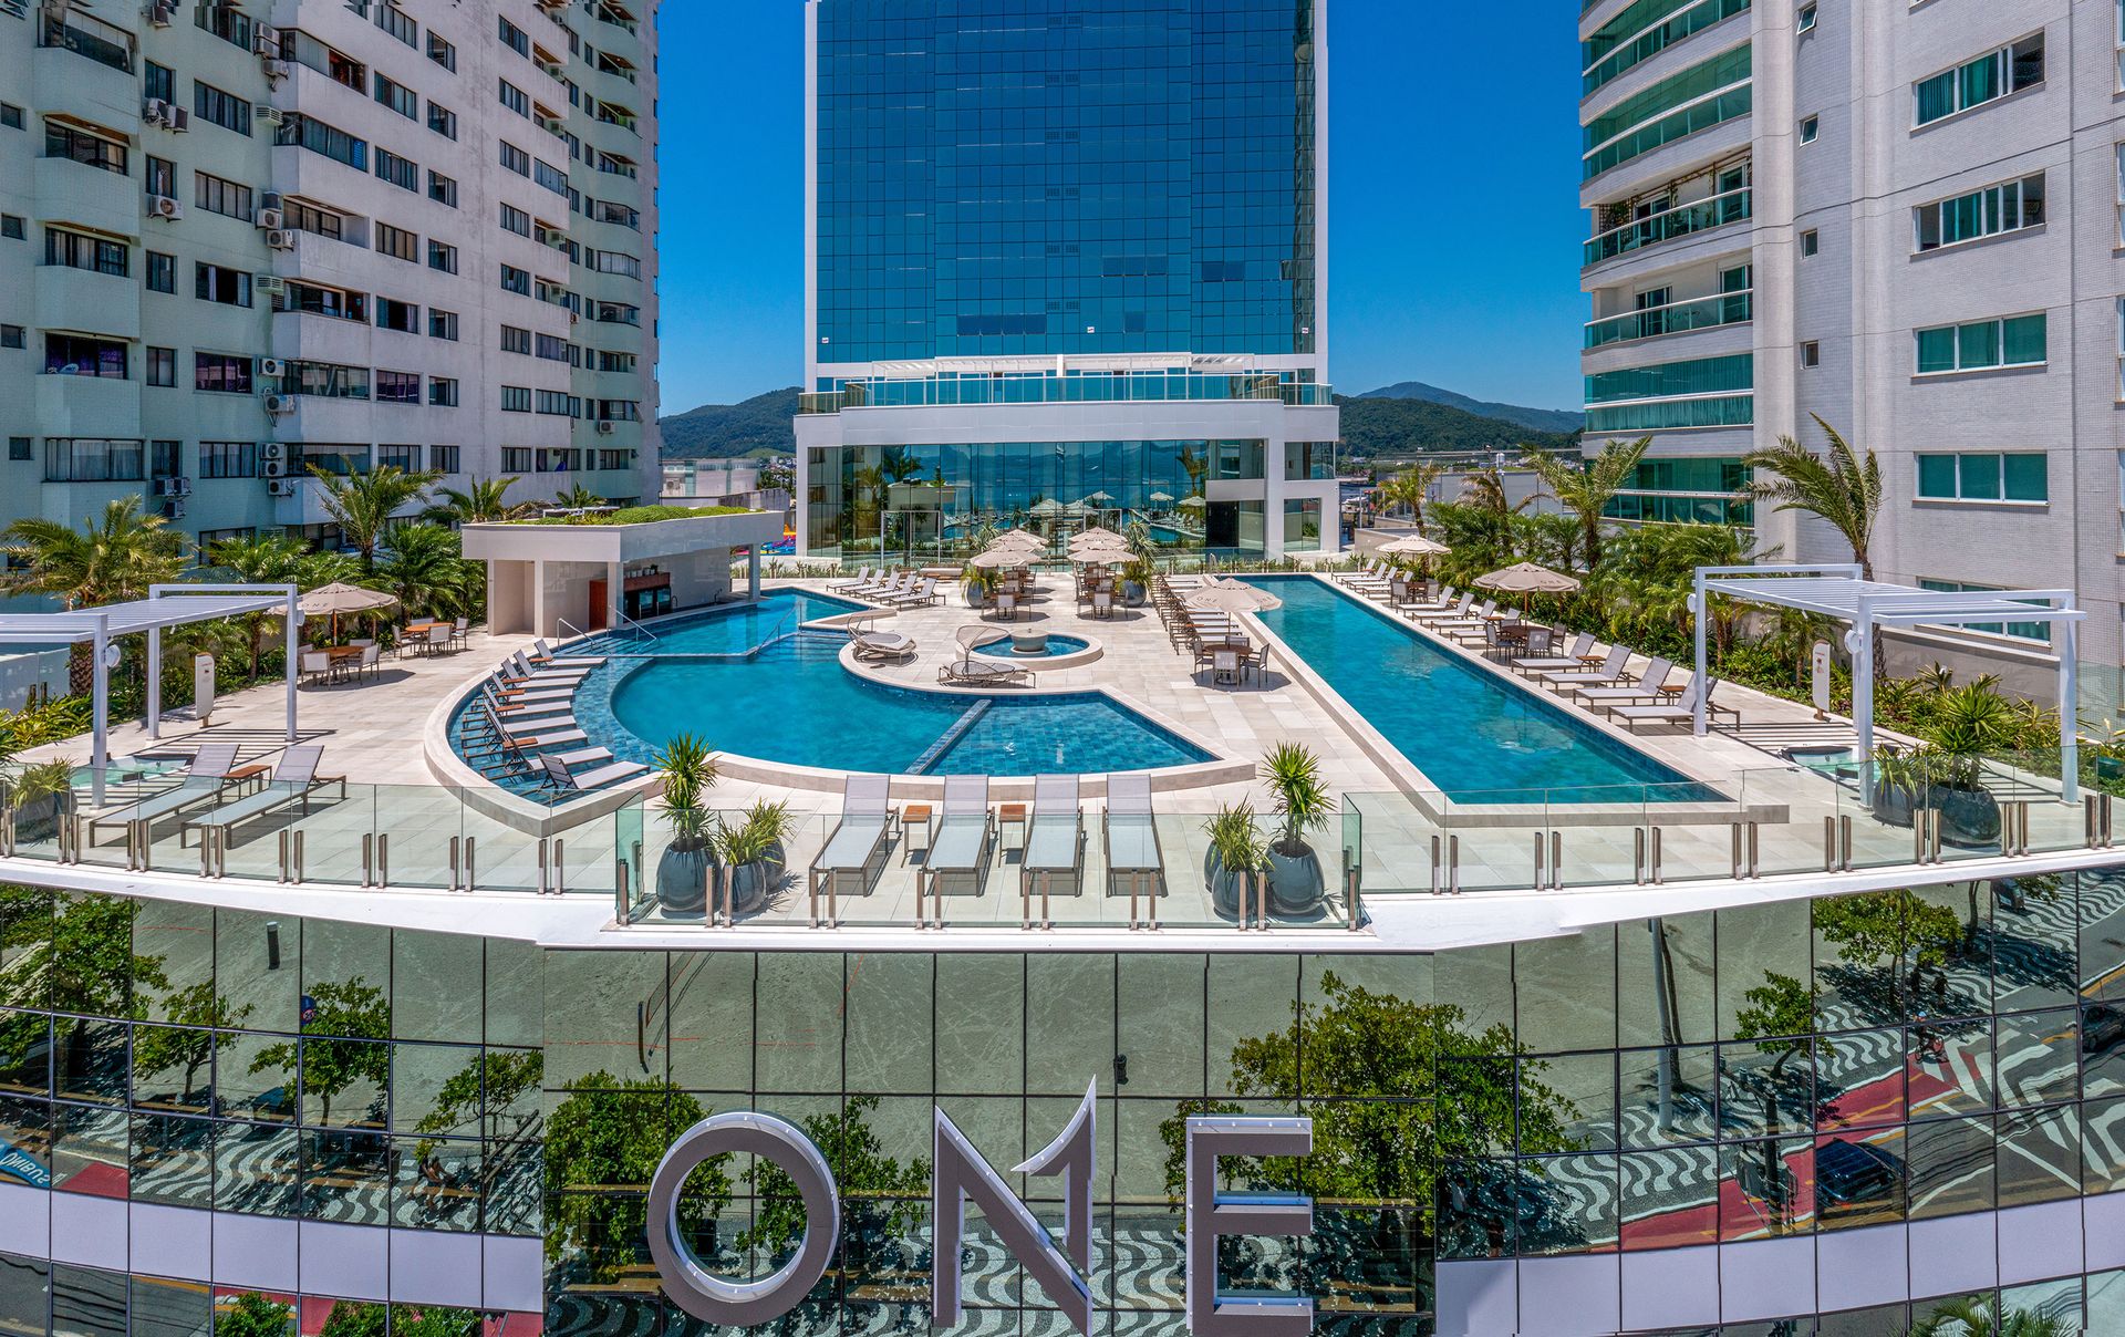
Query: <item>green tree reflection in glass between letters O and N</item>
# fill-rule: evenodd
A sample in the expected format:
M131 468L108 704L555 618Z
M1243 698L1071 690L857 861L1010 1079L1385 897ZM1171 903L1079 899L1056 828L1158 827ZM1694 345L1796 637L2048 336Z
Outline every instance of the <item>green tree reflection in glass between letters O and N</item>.
M850 1097L837 1114L814 1114L799 1120L803 1135L827 1158L842 1192L842 1273L854 1290L882 1271L914 1273L926 1267L916 1231L929 1216L929 1161L901 1165L888 1156L871 1131L869 1114L878 1110L876 1095ZM803 1237L803 1199L797 1182L767 1161L754 1163L746 1180L756 1195L752 1229L740 1233L740 1250L761 1250L769 1267L780 1267ZM835 1326L831 1277L812 1288L801 1305L776 1320L776 1333L822 1333ZM890 1324L880 1328L880 1324ZM918 1305L897 1305L865 1316L869 1331L929 1328L929 1316Z

